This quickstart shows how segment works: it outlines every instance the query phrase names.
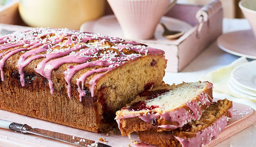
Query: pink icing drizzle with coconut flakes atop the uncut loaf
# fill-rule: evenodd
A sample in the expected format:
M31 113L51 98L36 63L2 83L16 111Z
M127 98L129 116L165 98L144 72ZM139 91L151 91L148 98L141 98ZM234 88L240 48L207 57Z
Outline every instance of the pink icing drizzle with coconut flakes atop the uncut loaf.
M54 36L52 36L52 34L54 34ZM66 39L65 43L62 45L59 44L64 41L63 39ZM95 45L84 44L89 40L97 40L98 42L96 42ZM102 45L105 44L105 42L115 44L115 46L108 46L107 48L111 47L118 49L120 54L116 52L98 54L99 51L104 49ZM54 49L56 47L61 49ZM25 86L23 68L36 59L44 58L43 61L37 65L35 71L49 81L51 94L54 93L54 85L51 80L52 71L59 68L59 66L62 64L79 64L75 66L69 65L67 70L64 72L65 80L68 83L67 91L69 97L71 97L71 79L78 71L88 67L102 66L103 68L101 69L92 69L91 71L87 71L77 79L80 101L82 101L83 96L86 96L84 91L84 81L91 74L103 72L94 76L89 82L89 90L91 92L91 96L94 97L96 82L107 72L122 66L127 61L138 59L142 56L141 54L164 54L162 50L153 49L134 41L123 41L123 39L120 38L113 38L83 31L47 28L34 28L32 30L23 32L17 31L9 36L0 38L0 50L9 48L14 49L0 53L1 80L4 81L3 67L5 61L10 56L17 54L20 51L26 51L22 56L20 56L18 61L18 71L20 74L21 85ZM54 49L54 51L52 51L52 49ZM139 54L126 55L123 53L123 49L137 51ZM98 58L99 60L90 62L89 60L92 58ZM80 86L80 83L82 83L82 86Z

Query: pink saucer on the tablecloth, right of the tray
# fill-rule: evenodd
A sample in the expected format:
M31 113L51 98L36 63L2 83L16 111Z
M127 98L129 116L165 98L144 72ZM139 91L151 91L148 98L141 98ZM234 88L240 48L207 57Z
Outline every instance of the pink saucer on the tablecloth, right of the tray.
M256 59L256 39L251 30L222 34L217 39L217 45L230 54Z

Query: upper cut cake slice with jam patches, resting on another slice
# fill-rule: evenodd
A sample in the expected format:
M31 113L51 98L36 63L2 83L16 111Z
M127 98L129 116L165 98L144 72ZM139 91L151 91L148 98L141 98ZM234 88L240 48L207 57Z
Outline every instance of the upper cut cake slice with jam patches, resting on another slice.
M202 111L212 102L212 83L194 82L160 86L139 94L116 113L122 135L133 131L171 131L192 120L199 120Z

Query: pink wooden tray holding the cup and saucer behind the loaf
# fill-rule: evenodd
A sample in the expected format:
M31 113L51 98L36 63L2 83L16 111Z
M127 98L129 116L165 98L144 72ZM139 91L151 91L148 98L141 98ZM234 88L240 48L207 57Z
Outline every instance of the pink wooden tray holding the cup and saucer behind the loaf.
M24 25L18 13L17 0L15 1L16 3L7 9L0 10L0 23ZM199 12L204 11L204 14L207 15L204 16L204 21L200 23ZM109 14L113 14L113 12L107 4L105 15ZM199 15L197 16L197 14ZM222 14L221 4L217 0L213 0L212 3L204 7L199 5L176 4L165 16L185 21L193 26L191 29L186 31L179 39L172 41L157 38L157 36L154 39L138 41L164 50L166 59L168 60L166 71L178 72L222 33ZM104 25L107 26L106 23ZM168 29L175 29L172 26L167 27Z

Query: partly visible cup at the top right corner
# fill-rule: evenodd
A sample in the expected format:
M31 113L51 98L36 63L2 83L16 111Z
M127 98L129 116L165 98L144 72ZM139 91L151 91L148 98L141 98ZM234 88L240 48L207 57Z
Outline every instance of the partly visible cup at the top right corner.
M239 7L245 18L249 21L254 36L256 38L256 1L243 0L239 2Z

